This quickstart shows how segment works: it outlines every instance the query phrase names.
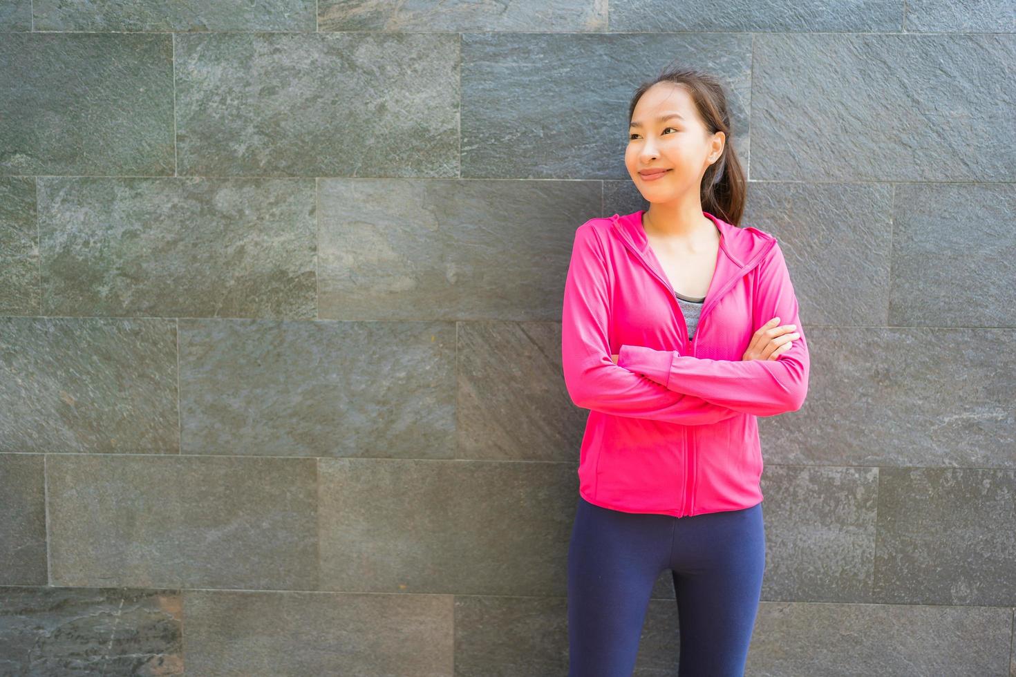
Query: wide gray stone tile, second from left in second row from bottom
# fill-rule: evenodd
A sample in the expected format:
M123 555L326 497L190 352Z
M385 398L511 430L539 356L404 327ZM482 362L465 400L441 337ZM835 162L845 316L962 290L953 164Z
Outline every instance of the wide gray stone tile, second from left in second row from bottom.
M314 459L54 455L59 586L314 590Z

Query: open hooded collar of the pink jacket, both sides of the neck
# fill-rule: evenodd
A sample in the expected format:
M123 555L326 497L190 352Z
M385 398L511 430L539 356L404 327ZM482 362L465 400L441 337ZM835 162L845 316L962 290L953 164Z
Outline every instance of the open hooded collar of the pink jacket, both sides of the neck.
M615 232L641 262L652 271L660 282L666 284L666 275L659 267L656 257L649 248L649 240L642 228L642 214L646 210L631 214L615 214L611 216ZM716 269L713 272L706 300L702 307L704 316L709 309L752 268L765 258L765 255L776 246L776 239L768 232L753 226L737 226L723 219L702 212L708 216L719 230L719 252L716 256ZM674 288L666 284L673 293Z

